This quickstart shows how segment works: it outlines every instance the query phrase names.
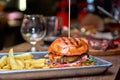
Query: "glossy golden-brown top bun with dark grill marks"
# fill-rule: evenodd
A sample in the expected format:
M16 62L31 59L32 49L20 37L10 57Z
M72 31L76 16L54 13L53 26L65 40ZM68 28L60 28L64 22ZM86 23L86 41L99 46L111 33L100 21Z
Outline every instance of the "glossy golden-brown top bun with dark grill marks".
M88 52L88 44L73 37L59 37L49 46L48 52L59 56L75 56Z

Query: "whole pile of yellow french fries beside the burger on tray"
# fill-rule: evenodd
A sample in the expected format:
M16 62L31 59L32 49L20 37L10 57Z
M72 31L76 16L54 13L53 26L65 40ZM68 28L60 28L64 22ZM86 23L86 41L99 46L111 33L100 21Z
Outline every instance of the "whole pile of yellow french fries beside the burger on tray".
M0 70L21 70L21 69L40 69L49 68L45 58L33 59L31 53L14 55L10 49L8 55L0 58Z

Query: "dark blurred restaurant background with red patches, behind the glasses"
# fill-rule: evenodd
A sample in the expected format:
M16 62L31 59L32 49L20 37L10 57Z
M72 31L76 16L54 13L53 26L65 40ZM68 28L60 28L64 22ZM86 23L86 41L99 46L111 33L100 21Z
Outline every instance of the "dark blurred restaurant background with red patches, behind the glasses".
M20 33L24 14L61 16L63 29L66 29L68 0L0 0L0 49L25 42ZM98 31L119 31L119 19L120 0L71 0L73 27L96 22L94 26L99 28ZM94 27L89 28L92 30Z

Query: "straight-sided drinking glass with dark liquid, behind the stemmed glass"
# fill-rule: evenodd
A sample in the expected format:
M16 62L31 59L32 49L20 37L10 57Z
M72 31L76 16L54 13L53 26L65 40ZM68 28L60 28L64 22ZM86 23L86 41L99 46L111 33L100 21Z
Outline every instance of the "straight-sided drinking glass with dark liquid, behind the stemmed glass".
M49 46L56 38L62 35L63 19L57 16L46 16L45 21L47 34L44 37L44 43Z

